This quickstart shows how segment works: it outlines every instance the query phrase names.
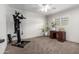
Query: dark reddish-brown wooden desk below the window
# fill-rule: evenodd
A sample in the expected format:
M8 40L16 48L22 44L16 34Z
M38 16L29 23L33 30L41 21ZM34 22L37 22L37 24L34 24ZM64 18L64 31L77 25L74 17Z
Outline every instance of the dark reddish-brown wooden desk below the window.
M66 41L66 32L65 31L50 31L50 38L64 42Z

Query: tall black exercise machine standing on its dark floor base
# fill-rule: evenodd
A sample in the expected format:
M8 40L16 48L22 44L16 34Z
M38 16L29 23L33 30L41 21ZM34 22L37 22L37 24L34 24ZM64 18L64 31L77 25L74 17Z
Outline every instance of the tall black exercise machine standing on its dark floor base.
M14 19L14 30L15 30L14 33L17 35L17 42L12 44L12 46L24 48L24 46L30 42L30 41L21 41L20 24L21 20L26 18L21 13L15 11L13 19Z

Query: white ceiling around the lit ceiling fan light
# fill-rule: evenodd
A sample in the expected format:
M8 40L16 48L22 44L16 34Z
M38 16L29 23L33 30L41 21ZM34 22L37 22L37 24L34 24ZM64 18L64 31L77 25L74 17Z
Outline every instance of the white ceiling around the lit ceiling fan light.
M47 12L40 11L40 4L9 4L9 7L22 9L22 10L28 10L36 13L40 13L43 15L50 15L55 14L57 12L67 10L70 8L73 8L75 6L78 6L77 4L50 4L51 9Z

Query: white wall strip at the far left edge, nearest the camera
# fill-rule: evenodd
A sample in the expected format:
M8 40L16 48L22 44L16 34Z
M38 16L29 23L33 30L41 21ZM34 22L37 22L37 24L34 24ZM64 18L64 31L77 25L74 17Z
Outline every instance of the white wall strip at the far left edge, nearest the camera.
M0 39L5 39L4 43L0 43L0 53L3 53L6 45L6 5L0 4Z

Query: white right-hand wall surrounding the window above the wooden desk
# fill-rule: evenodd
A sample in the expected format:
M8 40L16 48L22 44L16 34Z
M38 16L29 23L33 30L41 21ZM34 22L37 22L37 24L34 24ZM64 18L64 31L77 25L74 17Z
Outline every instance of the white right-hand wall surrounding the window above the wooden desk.
M57 17L68 17L69 22L65 27L66 39L72 42L79 43L79 7L66 10L55 15L50 15L48 18L48 23Z

